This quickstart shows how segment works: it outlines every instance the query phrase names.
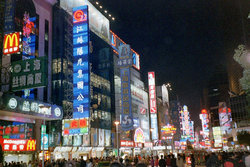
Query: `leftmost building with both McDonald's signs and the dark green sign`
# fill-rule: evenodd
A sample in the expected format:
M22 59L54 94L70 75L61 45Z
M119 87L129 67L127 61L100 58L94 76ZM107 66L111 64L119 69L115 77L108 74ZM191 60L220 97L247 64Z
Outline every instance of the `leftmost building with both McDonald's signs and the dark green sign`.
M0 144L7 162L38 158L37 153L48 149L45 140L48 134L42 125L62 119L62 108L51 103L54 3L1 1L0 7L5 4L5 10L0 10L1 16L4 11L0 19L4 25L0 30L3 39Z

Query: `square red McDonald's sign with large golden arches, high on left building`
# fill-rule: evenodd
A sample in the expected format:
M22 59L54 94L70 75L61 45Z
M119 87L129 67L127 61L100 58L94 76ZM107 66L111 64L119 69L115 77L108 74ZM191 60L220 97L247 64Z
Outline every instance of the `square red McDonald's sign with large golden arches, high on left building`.
M4 35L3 40L3 54L13 54L13 53L19 53L21 48L21 33L20 32L14 32L10 34Z

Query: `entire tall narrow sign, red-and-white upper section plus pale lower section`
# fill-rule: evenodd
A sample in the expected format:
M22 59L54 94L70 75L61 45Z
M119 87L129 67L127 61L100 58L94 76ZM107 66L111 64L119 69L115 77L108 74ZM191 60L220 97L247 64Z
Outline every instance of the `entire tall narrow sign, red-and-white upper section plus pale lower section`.
M150 102L150 118L152 139L158 140L158 123L157 123L157 107L156 107L156 94L155 94L155 73L148 73L148 87L149 87L149 102Z

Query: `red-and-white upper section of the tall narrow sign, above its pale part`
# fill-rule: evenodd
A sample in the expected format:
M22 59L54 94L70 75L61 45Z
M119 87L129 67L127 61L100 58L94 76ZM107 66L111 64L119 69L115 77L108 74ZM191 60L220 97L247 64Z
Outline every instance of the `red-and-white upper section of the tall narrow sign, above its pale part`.
M155 73L148 73L148 86L149 86L149 101L150 101L150 113L156 114L156 94L155 94Z

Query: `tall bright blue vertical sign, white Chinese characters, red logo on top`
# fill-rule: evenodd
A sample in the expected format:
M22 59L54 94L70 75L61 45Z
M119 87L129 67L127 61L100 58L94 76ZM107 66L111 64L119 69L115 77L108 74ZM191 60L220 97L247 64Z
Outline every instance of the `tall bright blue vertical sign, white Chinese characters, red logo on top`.
M89 117L88 6L73 8L73 118Z

